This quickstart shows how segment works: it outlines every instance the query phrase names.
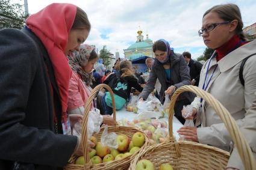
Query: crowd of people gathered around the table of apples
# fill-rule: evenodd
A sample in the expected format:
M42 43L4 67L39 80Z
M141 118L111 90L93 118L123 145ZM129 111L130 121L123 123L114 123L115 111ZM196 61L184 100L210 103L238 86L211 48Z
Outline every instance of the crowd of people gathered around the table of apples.
M202 16L198 34L215 50L204 65L189 52L174 52L164 39L155 41L155 58L146 59L150 72L144 88L130 61L119 58L107 70L95 49L83 44L90 28L81 8L51 4L29 16L22 29L1 29L0 169L61 169L72 154L82 155L81 136L69 135L68 125L72 130L83 120L84 103L100 83L113 88L117 110L130 99L132 88L141 92L141 102L155 90L163 103L177 88L198 86L228 109L256 156L256 41L246 41L237 5L216 5ZM91 107L101 111L102 124L113 125L110 94L102 93ZM193 106L189 119L196 126L182 127L179 135L233 150L227 169L244 169L213 108L195 94L181 94L174 109L183 124L185 105Z

